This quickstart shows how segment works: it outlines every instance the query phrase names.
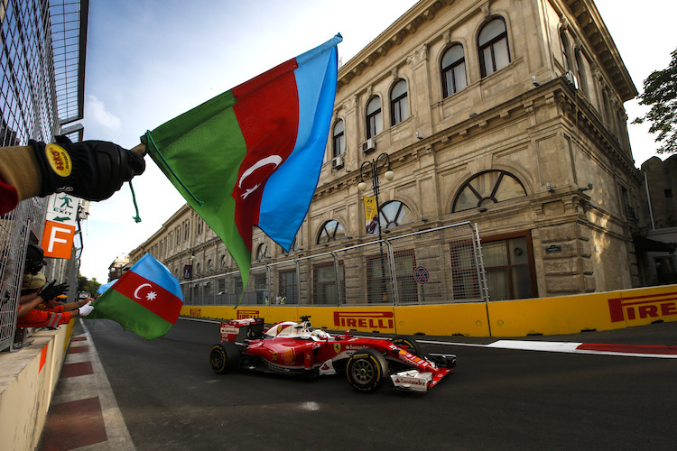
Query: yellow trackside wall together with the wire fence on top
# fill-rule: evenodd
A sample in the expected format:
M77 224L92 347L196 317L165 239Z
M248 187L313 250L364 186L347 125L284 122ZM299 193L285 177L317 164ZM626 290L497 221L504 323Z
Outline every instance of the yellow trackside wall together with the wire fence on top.
M564 335L677 320L677 286L488 299L477 226L460 223L181 283L181 315L310 315L316 327L429 336ZM237 299L240 304L235 308Z

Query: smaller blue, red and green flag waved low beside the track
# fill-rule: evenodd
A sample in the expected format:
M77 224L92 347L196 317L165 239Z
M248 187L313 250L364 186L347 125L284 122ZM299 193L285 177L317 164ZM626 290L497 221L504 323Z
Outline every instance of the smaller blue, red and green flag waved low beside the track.
M97 300L88 318L112 319L148 340L169 332L179 318L183 294L179 280L146 253Z

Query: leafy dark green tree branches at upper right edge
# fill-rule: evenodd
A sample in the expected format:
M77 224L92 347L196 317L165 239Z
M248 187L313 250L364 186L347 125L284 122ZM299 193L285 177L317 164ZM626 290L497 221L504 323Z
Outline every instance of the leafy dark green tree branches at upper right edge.
M656 152L677 152L677 50L671 53L667 69L654 70L645 79L644 92L638 97L639 105L651 106L646 115L637 117L633 124L651 123L649 132L658 133L656 143L662 143Z

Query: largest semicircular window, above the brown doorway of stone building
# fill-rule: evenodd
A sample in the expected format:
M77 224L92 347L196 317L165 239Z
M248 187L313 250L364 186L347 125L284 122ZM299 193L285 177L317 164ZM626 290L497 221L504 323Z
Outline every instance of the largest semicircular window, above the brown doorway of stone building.
M468 180L456 196L451 212L486 207L496 202L524 196L526 190L515 176L505 170L489 170Z

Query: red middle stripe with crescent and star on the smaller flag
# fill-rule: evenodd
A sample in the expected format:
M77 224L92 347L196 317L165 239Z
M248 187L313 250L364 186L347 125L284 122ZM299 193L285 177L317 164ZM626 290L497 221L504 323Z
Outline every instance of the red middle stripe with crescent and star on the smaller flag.
M179 318L181 299L160 285L141 277L135 272L125 272L111 290L116 290L126 298L149 309L158 317L172 324Z

